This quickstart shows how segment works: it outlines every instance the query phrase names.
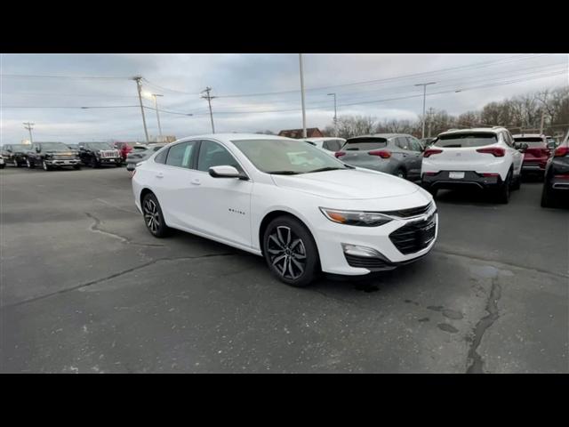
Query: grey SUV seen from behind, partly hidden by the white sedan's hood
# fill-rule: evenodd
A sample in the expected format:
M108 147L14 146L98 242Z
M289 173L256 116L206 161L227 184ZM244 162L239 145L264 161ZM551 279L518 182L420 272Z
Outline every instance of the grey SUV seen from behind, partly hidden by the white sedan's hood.
M412 181L421 179L423 147L405 133L376 133L350 138L335 153L348 165L390 173Z

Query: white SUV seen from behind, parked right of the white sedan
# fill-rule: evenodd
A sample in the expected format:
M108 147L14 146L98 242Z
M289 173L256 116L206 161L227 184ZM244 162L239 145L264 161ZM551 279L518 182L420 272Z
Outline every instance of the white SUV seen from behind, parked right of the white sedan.
M423 153L422 185L433 196L438 189L476 186L508 203L510 189L520 187L525 148L503 127L440 133Z

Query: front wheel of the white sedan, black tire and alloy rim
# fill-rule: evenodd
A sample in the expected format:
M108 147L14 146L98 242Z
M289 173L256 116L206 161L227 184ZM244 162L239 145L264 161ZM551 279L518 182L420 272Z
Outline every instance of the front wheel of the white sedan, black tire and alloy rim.
M268 224L263 233L263 254L268 270L286 285L309 286L320 271L312 234L292 216L279 216Z

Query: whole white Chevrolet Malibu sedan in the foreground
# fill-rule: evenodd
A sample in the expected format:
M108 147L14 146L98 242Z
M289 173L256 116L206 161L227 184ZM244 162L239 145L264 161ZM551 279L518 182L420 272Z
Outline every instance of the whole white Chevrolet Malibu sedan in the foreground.
M426 190L277 136L172 142L136 168L132 190L156 238L183 230L263 256L291 286L308 286L320 272L393 270L437 239Z

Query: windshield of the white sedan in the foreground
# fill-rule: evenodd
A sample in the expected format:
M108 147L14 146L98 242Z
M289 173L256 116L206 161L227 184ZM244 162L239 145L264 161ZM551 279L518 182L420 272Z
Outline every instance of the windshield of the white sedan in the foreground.
M349 167L306 141L232 141L257 169L266 173L311 173Z

